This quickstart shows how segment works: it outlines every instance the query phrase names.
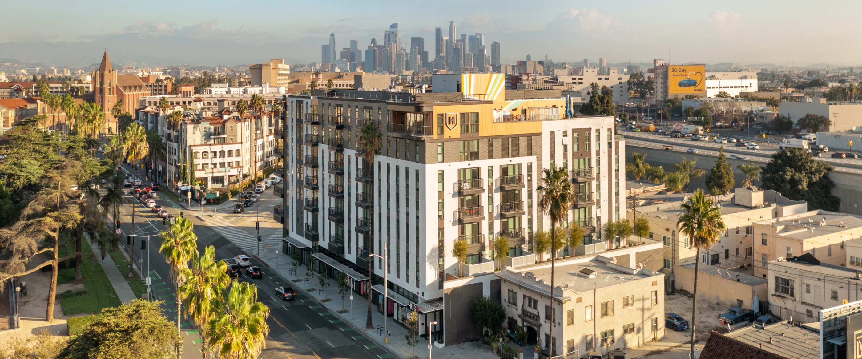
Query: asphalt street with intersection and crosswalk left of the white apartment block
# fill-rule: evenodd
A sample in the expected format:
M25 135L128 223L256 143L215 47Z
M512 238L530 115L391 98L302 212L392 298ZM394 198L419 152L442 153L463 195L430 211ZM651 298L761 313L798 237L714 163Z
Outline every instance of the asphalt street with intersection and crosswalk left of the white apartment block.
M125 170L126 168L124 168ZM142 179L142 178L141 178ZM163 191L167 191L163 188ZM161 205L162 209L179 217L180 212L184 212L184 217L191 220L195 225L195 233L197 234L198 250L203 251L206 246L215 247L215 255L219 259L232 262L235 255L245 254L252 255L256 240L249 232L254 233L254 222L259 215L261 222L261 236L264 230L268 236L267 242L272 242L271 238L278 236L280 242L280 224L272 220L272 205L275 205L278 200L272 195L272 189L265 191L265 198L261 200L261 204L255 204L247 207L246 211L241 214L229 212L226 214L219 213L222 220L218 221L218 226L221 230L215 230L209 226L213 213L205 208L207 222L202 222L197 216L200 216L198 208L192 208L191 211L181 209L179 205L168 199L166 196L154 198L157 205ZM141 251L140 239L135 239L134 243L134 260L139 261L141 255L143 258L143 268L153 276L153 293L154 298L165 300L161 305L165 310L166 315L170 318L176 318L177 304L175 290L172 286L169 277L169 268L164 258L159 255L159 231L166 230L166 226L162 224L153 210L146 208L144 205L134 201L131 196L126 196L129 202L135 203L135 236L150 236L151 242L147 242L147 249ZM235 196L234 196L235 197ZM197 211L196 211L197 210ZM122 229L122 244L126 246L125 236L132 230L131 206L124 205L122 209L121 229ZM225 223L229 224L225 224ZM220 232L225 230L240 230L251 237L253 242L240 242L242 248L235 244L235 241L247 241L246 236L242 236L239 232L230 232L233 236L232 242ZM248 244L248 245L246 245ZM147 265L147 255L149 255L149 268ZM253 283L259 288L258 300L269 306L270 317L267 323L270 326L269 336L267 337L266 349L260 357L262 358L284 358L285 354L290 358L386 358L392 357L388 352L373 344L370 340L365 339L364 332L354 331L347 324L341 323L339 319L335 319L332 312L328 312L320 305L316 305L313 299L309 299L302 293L297 292L297 298L293 300L276 299L274 289L276 287L290 286L288 280L284 280L278 276L267 273L267 268L252 261L253 265L260 266L264 270L262 279L252 280L243 274L239 280ZM192 324L188 323L188 319L182 319L184 330L192 330ZM199 337L197 331L187 331L185 338L184 357L200 357L197 350L200 348ZM197 342L197 343L195 343Z

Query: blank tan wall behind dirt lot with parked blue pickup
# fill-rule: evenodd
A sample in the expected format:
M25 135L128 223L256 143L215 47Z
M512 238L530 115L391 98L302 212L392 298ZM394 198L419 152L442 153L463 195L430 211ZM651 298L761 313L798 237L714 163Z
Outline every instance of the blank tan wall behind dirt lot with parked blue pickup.
M701 268L703 267L702 265ZM721 271L723 272L723 270ZM689 266L677 266L674 268L674 274L677 279L676 287L692 293L695 270L689 268ZM734 272L730 272L730 274L734 274ZM747 274L743 275L748 276ZM755 280L758 279L755 278ZM764 280L758 280L758 283L752 285L741 281L728 280L715 273L707 273L702 270L697 275L697 297L698 299L709 300L710 303L718 302L728 307L735 306L736 300L740 299L742 300L743 308L751 309L754 294L757 294L761 301L767 300L767 285L768 283Z

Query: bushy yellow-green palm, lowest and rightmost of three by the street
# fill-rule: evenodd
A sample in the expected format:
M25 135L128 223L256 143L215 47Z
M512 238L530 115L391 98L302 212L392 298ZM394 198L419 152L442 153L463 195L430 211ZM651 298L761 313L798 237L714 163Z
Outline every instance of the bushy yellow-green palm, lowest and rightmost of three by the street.
M213 316L207 324L209 345L218 348L222 359L251 359L266 346L270 309L258 302L258 290L251 283L234 280L212 300Z

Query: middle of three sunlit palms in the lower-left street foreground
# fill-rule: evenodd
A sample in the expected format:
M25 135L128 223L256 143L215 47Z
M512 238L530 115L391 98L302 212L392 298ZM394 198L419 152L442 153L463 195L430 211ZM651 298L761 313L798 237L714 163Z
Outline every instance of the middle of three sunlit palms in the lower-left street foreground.
M203 255L194 252L191 268L180 269L179 275L185 281L183 286L177 289L177 299L185 305L186 318L191 318L200 331L203 353L207 352L205 349L209 344L207 322L213 314L212 300L230 284L227 267L228 263L225 261L215 261L215 248L208 246L203 249Z

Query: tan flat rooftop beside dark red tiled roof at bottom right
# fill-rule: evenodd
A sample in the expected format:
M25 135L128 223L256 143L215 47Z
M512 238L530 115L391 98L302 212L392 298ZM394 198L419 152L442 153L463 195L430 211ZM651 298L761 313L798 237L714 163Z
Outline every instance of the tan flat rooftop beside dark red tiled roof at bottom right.
M799 323L784 321L764 329L746 326L724 335L791 359L820 359L820 332Z

